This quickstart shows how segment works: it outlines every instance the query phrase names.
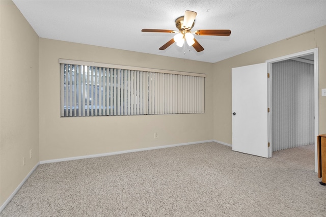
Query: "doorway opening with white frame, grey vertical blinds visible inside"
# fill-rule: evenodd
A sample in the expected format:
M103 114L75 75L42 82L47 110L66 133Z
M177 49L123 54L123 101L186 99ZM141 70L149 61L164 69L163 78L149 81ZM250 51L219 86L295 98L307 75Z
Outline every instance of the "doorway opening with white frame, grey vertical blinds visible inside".
M311 152L313 148L317 172L318 50L266 62L271 78L268 82L269 157L273 151L296 148Z

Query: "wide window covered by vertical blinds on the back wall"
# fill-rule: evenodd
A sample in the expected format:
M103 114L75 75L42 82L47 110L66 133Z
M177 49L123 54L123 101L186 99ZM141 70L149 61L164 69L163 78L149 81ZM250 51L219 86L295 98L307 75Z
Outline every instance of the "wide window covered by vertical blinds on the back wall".
M62 117L204 113L205 74L59 63Z

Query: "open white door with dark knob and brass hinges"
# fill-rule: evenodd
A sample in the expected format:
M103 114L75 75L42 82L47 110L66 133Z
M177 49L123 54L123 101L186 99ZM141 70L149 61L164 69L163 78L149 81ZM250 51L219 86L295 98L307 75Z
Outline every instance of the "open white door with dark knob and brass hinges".
M232 150L268 158L267 63L232 69Z

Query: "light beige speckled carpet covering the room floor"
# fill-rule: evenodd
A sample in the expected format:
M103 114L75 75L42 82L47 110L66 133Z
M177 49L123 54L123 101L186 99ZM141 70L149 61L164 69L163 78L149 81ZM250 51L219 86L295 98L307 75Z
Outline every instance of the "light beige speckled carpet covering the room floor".
M325 216L312 145L214 142L40 165L0 216Z

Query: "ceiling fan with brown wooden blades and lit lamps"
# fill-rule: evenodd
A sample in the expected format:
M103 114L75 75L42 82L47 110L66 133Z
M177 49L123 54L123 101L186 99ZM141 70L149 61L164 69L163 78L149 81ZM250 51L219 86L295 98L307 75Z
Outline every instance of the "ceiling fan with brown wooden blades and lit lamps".
M230 36L231 30L229 29L200 29L195 32L191 32L191 29L195 25L195 18L197 12L195 11L185 11L184 16L181 16L175 20L175 26L179 29L178 34L176 34L170 41L158 48L159 50L165 50L174 42L177 43L177 46L182 47L184 41L189 46L193 46L197 52L203 51L204 48L198 43L193 34L198 36ZM175 30L167 29L149 29L144 28L142 32L145 33L176 33Z

